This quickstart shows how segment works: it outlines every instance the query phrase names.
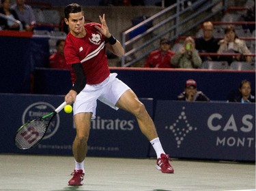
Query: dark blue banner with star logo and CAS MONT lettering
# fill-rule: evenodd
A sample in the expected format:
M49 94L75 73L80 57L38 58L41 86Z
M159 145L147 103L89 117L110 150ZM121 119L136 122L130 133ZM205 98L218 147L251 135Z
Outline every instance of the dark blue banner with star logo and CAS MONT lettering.
M157 101L154 122L172 158L255 161L253 103Z

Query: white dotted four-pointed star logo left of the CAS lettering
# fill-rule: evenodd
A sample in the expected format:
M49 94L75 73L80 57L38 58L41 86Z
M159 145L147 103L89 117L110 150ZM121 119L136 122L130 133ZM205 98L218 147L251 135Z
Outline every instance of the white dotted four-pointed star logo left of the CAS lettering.
M185 137L188 135L188 133L190 133L190 131L197 131L197 127L193 127L188 123L185 109L186 107L182 107L182 112L180 113L180 116L178 116L177 120L173 124L171 124L170 126L165 126L165 129L169 129L175 136L177 148L180 148L182 141L184 141ZM186 126L177 126L177 124L179 124L182 121L184 121Z

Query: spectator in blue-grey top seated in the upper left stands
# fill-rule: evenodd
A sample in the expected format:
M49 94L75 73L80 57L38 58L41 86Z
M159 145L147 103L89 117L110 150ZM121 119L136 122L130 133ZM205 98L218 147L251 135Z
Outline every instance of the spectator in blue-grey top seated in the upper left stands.
M35 15L33 14L32 7L25 4L25 0L16 0L12 5L12 9L18 14L20 22L23 23L25 31L33 31L33 24L35 24Z

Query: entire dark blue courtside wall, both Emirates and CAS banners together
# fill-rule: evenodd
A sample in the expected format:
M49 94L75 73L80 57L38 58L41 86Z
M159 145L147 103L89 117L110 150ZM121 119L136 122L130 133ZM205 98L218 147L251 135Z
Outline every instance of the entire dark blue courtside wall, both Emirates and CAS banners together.
M14 145L18 127L53 111L63 96L0 94L0 98L0 154L72 155L76 129L72 114L63 111L51 121L38 146L18 150ZM152 99L140 100L172 158L255 161L255 104L158 100L154 109ZM99 101L96 119L91 120L87 156L147 158L156 154L134 116Z

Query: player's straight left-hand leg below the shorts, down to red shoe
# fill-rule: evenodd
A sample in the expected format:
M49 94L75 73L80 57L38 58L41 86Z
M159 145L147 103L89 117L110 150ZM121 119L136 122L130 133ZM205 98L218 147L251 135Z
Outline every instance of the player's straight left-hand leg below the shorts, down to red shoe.
M89 139L89 128L91 124L91 113L79 113L74 115L74 124L76 126L76 137L72 145L74 154L75 168L73 177L68 181L70 186L83 185L85 175L84 160L87 154L87 141Z

